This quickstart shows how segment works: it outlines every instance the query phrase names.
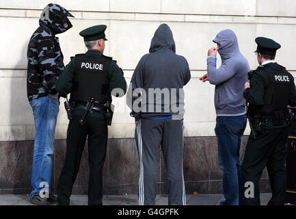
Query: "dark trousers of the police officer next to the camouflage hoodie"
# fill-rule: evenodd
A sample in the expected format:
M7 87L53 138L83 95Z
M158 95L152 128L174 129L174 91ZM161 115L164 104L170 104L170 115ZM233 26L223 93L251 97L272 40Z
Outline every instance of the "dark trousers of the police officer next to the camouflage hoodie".
M69 205L85 140L88 137L88 164L90 166L88 205L102 205L102 172L107 149L108 128L104 120L90 116L81 126L79 125L80 118L81 116L74 116L68 125L66 157L57 185L57 202L59 205Z

